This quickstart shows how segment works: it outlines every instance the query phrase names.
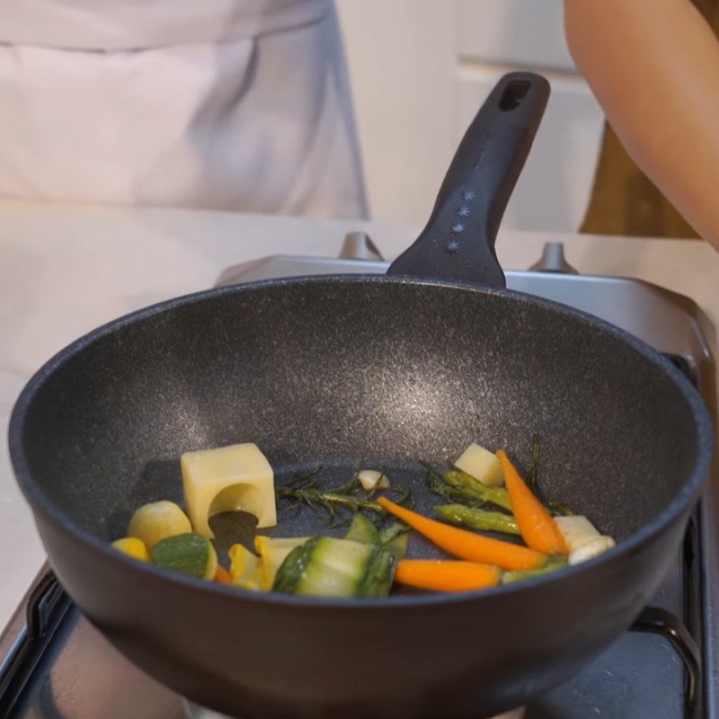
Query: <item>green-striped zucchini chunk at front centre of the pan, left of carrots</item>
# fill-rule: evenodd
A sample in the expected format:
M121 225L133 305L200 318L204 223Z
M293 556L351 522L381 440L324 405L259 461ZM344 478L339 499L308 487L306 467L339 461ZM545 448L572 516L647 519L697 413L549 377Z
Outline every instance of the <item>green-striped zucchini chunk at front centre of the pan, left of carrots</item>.
M386 597L395 559L380 546L313 537L293 549L272 590L307 597Z

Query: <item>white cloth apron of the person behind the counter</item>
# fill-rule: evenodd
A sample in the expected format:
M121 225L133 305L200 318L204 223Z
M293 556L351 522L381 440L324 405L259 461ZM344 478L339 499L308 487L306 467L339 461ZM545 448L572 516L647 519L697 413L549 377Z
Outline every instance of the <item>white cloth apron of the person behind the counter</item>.
M331 0L12 0L0 43L0 196L367 214Z

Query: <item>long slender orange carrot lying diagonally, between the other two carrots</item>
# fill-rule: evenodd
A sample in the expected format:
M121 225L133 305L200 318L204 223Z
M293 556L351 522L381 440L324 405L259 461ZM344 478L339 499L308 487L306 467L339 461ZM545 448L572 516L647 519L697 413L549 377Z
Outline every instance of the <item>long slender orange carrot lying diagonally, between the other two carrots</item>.
M466 529L449 527L447 524L438 522L435 519L423 517L422 514L418 514L416 511L400 507L399 504L395 504L386 497L378 497L377 503L390 514L402 519L410 527L446 550L450 555L458 556L460 559L466 559L469 562L496 564L502 569L516 571L540 569L546 564L546 555L526 546L502 542L501 539L483 537L481 534L468 532Z

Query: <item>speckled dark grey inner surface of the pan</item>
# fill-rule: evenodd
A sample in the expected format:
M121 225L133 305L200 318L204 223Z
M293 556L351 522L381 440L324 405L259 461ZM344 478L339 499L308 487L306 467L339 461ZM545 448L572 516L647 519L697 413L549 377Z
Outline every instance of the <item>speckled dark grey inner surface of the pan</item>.
M71 354L32 396L24 449L41 493L102 539L144 502L182 501L182 452L255 441L280 483L386 467L426 491L419 460L469 442L626 537L691 474L697 425L661 366L620 336L519 296L398 280L235 288L146 313ZM280 502L279 535L324 530ZM308 527L311 525L311 527Z

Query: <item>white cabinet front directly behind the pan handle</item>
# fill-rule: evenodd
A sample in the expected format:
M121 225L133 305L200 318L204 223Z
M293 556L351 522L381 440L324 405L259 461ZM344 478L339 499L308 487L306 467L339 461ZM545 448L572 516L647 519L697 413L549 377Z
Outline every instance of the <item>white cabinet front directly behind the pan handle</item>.
M552 84L504 226L573 231L603 116L564 44L561 0L337 0L373 217L422 224L497 78Z

